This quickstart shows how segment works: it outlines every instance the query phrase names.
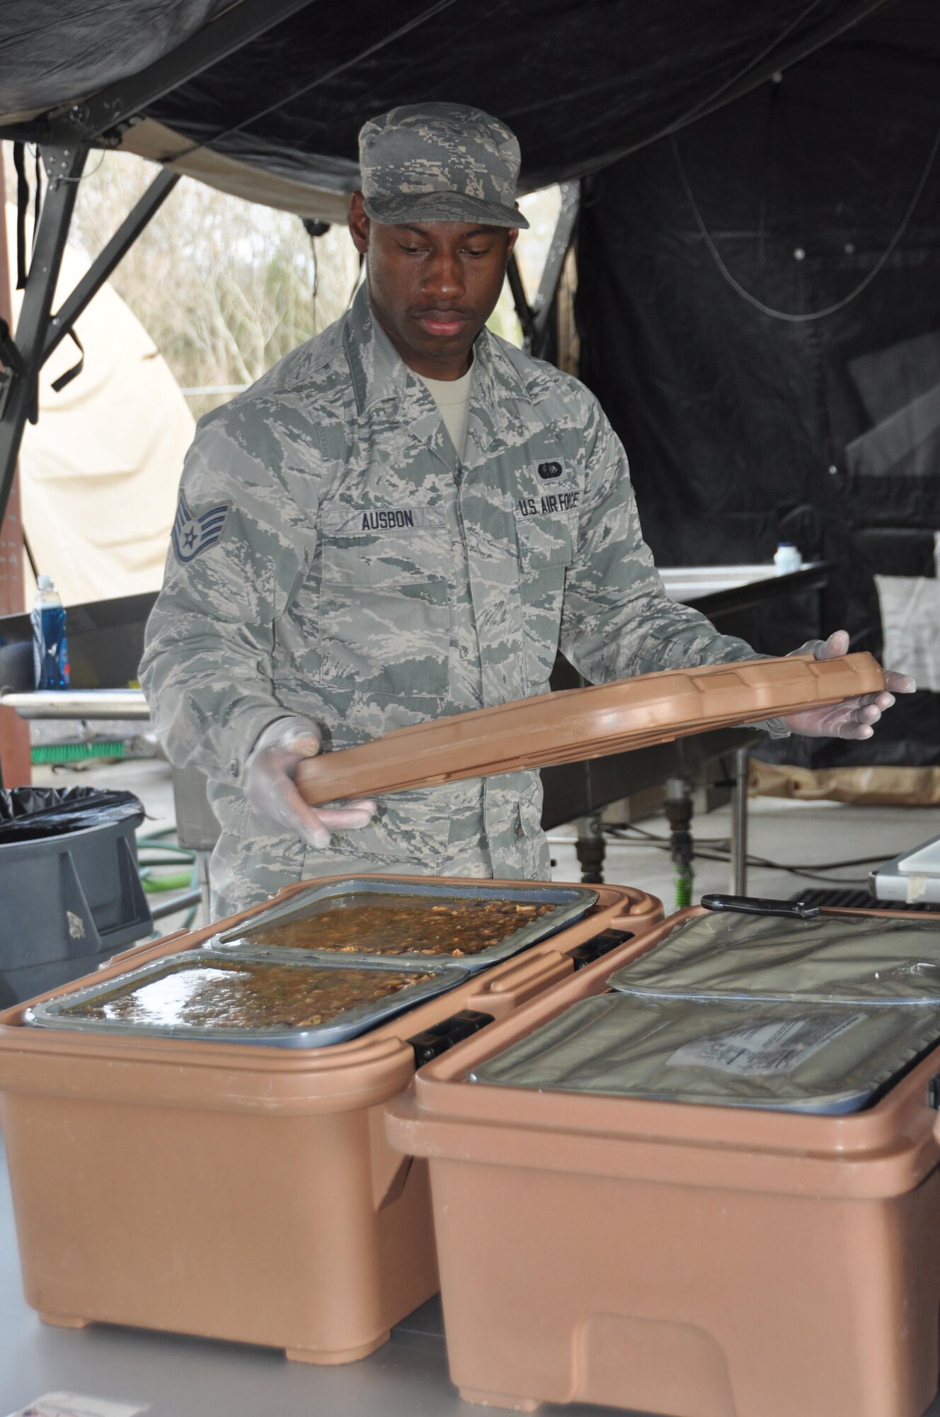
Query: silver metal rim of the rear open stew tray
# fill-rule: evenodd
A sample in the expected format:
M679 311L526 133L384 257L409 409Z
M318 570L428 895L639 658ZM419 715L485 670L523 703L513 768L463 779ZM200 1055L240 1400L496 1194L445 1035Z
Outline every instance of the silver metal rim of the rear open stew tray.
M269 958L289 958L289 959L309 959L311 956L328 956L333 959L350 961L354 958L352 952L340 952L336 949L303 949L296 945L253 945L252 935L259 930L266 930L270 925L283 925L292 920L303 920L306 914L319 914L316 907L321 903L327 903L323 914L333 910L343 910L351 904L361 904L362 898L369 896L425 896L428 900L517 900L527 901L529 904L545 904L551 901L558 903L558 908L549 915L541 915L531 924L524 925L521 930L512 931L497 945L488 945L476 955L426 955L419 952L406 952L395 955L382 955L369 951L362 954L362 959L378 959L384 961L386 965L394 962L406 962L413 965L423 965L425 968L433 961L453 962L459 964L462 969L476 973L480 969L488 969L494 964L500 964L503 959L508 959L511 955L518 954L521 949L527 949L529 945L537 944L541 939L546 939L549 935L558 934L568 925L572 925L576 920L580 920L588 911L597 903L597 891L590 890L585 886L552 886L552 884L520 884L520 886L494 886L488 881L467 881L462 886L454 886L445 881L415 881L415 880L375 880L368 876L351 876L344 881L331 881L327 886L311 886L309 891L302 891L297 896L292 896L289 901L282 905L273 905L270 911L263 911L259 915L251 918L249 927L245 928L239 925L236 930L225 931L222 935L215 935L210 944L210 949L218 948L219 951L231 949L252 949L259 954L265 954Z

